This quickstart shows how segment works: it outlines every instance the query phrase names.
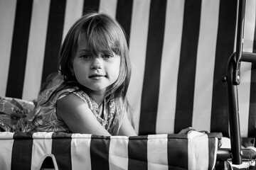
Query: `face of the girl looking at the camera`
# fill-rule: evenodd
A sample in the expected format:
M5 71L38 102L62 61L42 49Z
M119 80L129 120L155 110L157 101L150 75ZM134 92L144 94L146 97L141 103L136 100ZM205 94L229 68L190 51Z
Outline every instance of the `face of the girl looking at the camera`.
M75 78L92 91L105 93L119 76L120 56L114 52L99 52L92 55L85 36L78 42L78 50L73 60Z

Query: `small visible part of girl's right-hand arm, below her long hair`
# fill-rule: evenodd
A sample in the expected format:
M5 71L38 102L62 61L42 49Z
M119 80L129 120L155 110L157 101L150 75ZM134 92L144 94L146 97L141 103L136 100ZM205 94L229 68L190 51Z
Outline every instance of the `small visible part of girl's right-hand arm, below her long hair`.
M135 132L132 124L129 121L127 113L124 113L124 120L122 122L121 128L119 129L118 135L137 136L137 133Z

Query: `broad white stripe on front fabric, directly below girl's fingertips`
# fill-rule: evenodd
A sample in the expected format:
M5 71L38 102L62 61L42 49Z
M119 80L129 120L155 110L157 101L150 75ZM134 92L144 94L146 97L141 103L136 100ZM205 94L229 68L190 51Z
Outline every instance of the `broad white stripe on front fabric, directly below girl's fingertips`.
M201 132L188 132L188 170L208 169L208 136Z

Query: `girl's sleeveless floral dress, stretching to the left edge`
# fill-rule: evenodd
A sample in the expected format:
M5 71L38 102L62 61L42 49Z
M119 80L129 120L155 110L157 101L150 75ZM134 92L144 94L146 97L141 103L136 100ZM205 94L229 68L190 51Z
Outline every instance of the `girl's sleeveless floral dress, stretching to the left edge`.
M23 109L18 111L18 108L13 99L11 102L0 98L0 111L4 113L5 107L11 104L11 116L3 119L0 115L0 128L1 131L9 132L71 132L63 120L60 120L56 113L56 102L58 99L65 97L68 94L75 94L84 101L95 115L97 121L108 131L111 135L117 135L119 128L124 118L123 111L117 109L116 103L113 99L103 101L102 109L95 101L92 100L84 91L78 89L77 86L72 88L63 89L53 94L55 89L60 86L62 81L58 84L48 86L41 94L38 95L37 104L33 111ZM53 95L52 95L53 94ZM23 113L26 111L26 113ZM86 114L86 113L85 113ZM18 115L14 118L14 115ZM17 119L15 120L14 119ZM3 130L4 129L4 130Z

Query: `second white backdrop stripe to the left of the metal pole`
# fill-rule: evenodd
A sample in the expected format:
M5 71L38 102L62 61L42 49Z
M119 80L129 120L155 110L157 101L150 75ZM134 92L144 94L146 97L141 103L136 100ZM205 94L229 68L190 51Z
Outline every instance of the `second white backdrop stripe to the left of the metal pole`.
M167 1L156 133L174 133L184 3L184 0Z

